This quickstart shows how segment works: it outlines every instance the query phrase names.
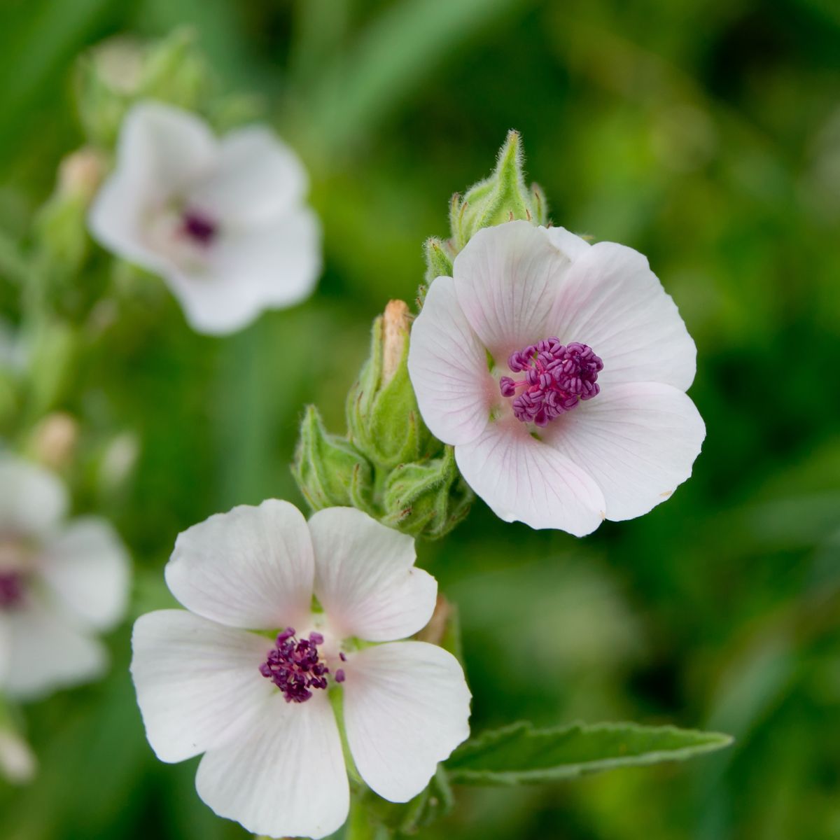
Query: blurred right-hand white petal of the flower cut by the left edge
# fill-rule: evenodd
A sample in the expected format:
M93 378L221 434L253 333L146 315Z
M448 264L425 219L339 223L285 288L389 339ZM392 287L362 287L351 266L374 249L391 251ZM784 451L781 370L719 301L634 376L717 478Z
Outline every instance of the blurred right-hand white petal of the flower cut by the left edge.
M104 519L76 519L42 551L41 575L55 596L92 627L112 627L125 613L129 555Z

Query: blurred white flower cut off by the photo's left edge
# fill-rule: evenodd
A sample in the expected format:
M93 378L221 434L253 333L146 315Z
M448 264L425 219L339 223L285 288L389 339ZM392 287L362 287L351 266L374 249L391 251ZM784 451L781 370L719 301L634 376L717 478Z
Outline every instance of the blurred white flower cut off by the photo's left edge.
M0 454L0 693L29 698L102 674L95 633L123 617L129 559L113 528L61 524L67 498L46 470Z

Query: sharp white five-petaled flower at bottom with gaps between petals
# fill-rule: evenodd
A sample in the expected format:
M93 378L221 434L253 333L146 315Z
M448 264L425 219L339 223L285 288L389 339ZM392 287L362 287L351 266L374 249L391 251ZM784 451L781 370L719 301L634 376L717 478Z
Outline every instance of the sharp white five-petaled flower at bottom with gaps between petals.
M435 605L414 556L412 538L365 513L333 507L307 522L286 501L182 533L166 583L190 612L134 625L131 670L158 758L205 753L198 795L249 832L325 837L349 807L328 699L340 690L362 779L390 801L420 793L469 733L470 691L443 648L395 641Z

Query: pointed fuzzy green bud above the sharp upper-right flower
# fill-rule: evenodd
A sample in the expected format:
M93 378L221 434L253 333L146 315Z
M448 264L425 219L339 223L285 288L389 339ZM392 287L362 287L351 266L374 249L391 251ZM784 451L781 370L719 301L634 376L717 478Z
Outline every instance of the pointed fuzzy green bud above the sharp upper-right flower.
M509 131L493 174L470 186L463 197L457 193L452 197L449 224L452 228L450 246L453 255L458 254L481 228L513 219L546 223L545 196L538 186L526 186L523 160L522 138L517 131Z

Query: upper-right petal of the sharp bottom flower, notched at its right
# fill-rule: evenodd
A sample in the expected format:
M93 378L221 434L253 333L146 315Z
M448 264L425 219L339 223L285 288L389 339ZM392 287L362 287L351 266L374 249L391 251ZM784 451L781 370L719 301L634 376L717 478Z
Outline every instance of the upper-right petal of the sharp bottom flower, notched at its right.
M414 568L414 540L352 507L328 507L309 520L315 594L342 638L405 638L434 612L438 582Z

